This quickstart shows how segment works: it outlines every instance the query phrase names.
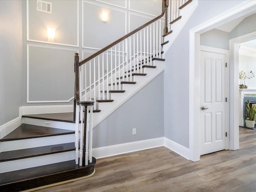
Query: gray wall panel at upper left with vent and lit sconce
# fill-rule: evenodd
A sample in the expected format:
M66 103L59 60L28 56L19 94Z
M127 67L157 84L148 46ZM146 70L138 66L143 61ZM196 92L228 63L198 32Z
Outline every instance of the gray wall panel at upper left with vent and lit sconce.
M27 1L27 40L78 46L78 1L47 2L52 3L52 14L37 11L36 0ZM54 41L48 41L47 28L56 30Z

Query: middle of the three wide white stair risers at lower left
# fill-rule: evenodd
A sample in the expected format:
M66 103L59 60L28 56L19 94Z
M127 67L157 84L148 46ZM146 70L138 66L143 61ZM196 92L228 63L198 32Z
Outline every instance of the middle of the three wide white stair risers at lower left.
M70 143L74 141L75 141L75 134L66 134L66 135L58 135L58 136L5 141L5 142L1 142L0 147L1 147L1 152L4 152L4 151L26 149L26 148L41 147L46 145Z

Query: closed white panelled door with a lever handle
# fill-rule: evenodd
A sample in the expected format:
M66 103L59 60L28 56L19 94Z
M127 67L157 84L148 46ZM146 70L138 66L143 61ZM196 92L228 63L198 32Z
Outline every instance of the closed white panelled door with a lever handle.
M203 155L226 149L226 55L200 53L200 154Z

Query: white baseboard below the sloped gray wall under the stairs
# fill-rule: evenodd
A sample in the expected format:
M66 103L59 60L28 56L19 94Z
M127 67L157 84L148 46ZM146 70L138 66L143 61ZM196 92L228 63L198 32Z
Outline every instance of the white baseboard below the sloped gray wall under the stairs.
M94 148L92 150L92 156L100 159L160 146L164 146L164 137Z

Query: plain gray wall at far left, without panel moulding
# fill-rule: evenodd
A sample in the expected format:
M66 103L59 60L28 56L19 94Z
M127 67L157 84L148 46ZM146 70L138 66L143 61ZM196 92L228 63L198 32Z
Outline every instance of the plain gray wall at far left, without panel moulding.
M0 126L22 105L22 1L0 1Z

